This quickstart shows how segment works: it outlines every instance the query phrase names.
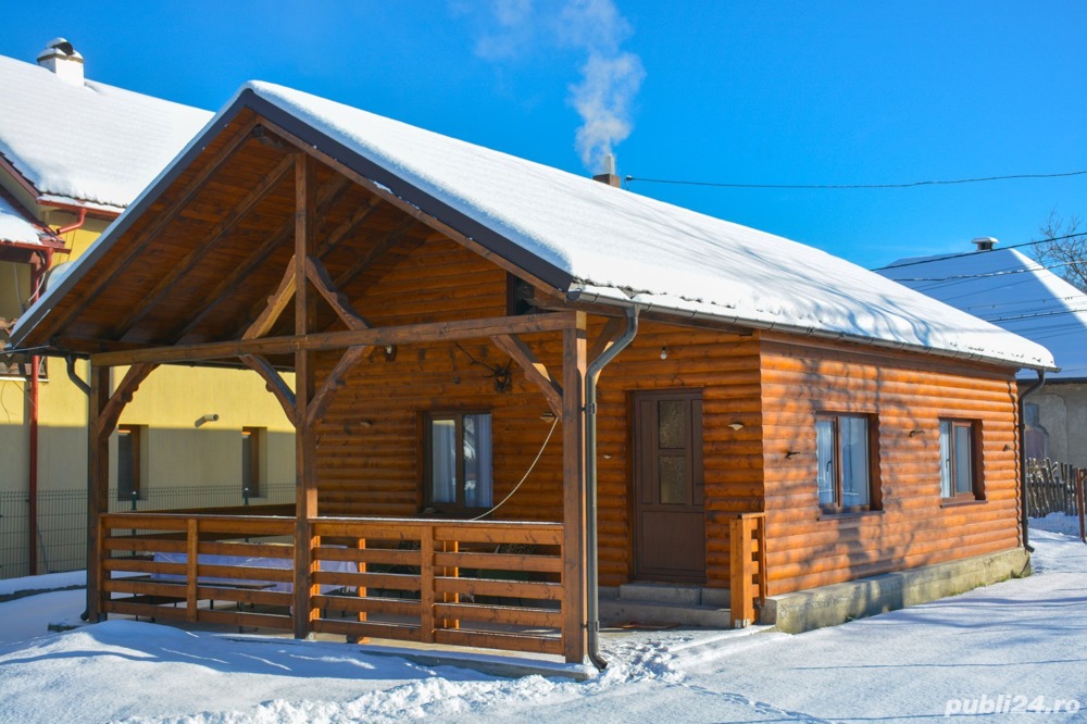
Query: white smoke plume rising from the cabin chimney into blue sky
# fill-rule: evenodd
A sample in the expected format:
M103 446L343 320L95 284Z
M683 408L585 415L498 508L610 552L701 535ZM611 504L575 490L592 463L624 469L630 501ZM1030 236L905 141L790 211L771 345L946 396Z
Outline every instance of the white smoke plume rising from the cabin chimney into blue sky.
M558 12L555 12L558 10ZM624 51L633 34L613 0L491 0L490 15L479 32L475 52L498 62L532 46L539 34L584 53L580 82L570 86L570 103L582 117L575 148L590 172L602 171L604 155L634 128L632 105L646 71L637 54Z

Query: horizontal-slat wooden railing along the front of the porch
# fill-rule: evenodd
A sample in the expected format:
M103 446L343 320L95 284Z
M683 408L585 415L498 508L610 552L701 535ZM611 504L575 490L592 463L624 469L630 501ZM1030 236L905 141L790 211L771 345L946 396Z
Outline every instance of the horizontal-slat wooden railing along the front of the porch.
M293 546L267 539L291 539L293 519L102 515L100 610L287 631L300 614L308 631L349 640L563 652L560 523L322 517L310 526L309 610L292 612Z

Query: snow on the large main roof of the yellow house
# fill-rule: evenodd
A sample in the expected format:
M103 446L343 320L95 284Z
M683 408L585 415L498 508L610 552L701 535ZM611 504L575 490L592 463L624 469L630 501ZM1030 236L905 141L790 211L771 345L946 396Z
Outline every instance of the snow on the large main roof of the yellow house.
M120 211L211 117L0 55L0 154L42 195Z

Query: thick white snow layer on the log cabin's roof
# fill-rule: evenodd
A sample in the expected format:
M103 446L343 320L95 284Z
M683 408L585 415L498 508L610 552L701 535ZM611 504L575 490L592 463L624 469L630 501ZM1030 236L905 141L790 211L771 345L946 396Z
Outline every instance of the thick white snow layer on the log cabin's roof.
M569 292L742 325L1050 367L1039 345L842 259L324 98L261 98L574 277Z

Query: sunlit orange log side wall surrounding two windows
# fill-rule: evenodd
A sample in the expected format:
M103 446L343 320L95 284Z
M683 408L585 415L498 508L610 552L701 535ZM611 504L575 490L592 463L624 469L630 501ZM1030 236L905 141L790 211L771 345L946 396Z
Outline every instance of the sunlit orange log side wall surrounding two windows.
M764 336L770 594L784 594L1019 545L1013 372L854 346ZM821 514L816 412L875 419L883 510ZM985 501L940 496L939 420L976 421ZM910 435L912 430L922 430ZM977 445L975 440L975 445ZM788 451L799 454L786 459Z

